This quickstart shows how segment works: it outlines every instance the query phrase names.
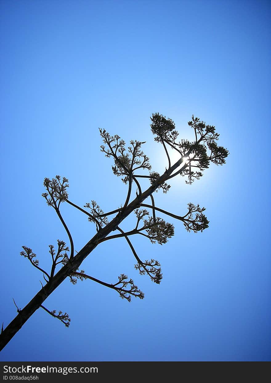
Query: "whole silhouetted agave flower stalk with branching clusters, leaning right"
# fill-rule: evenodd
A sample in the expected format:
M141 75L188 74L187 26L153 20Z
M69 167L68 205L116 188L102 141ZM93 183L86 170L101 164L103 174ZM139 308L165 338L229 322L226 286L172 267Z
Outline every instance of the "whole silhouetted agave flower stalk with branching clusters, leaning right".
M46 270L39 266L39 260L36 258L36 254L33 253L32 249L23 246L23 251L21 251L20 254L28 258L31 264L42 272L46 284L43 286L41 283L41 290L23 309L19 309L13 299L18 315L5 329L2 324L0 335L1 349L38 308L44 309L52 317L59 319L66 327L69 327L70 318L66 312L63 314L62 311L58 311L57 314L56 310L49 311L42 305L47 296L67 277L70 278L70 282L73 285L75 285L78 280L83 281L90 279L117 291L122 299L129 302L131 301L131 296L138 297L139 299L144 298L144 293L142 293L134 284L134 281L131 278L129 279L125 274L121 274L118 277L118 282L112 284L87 275L84 270L80 270L79 272L79 267L83 260L101 242L124 237L136 259L135 269L139 271L140 275L147 274L154 283L159 284L162 280L160 262L154 259L142 261L129 237L140 234L147 237L153 244L156 242L160 245L167 243L168 239L174 235L173 224L156 216L156 212L182 221L187 231L196 233L208 228L209 221L203 214L205 208L201 208L199 205L194 205L193 203L188 203L188 212L184 216L180 216L158 208L155 205L153 193L160 189L162 189L163 193L167 193L170 189L170 185L167 182L177 175L186 177L186 183L191 184L195 179L202 177L202 172L209 167L210 162L216 165L224 164L229 152L224 147L217 146L216 141L219 138L219 134L215 132L215 127L206 125L197 117L194 118L194 116L192 116L192 120L188 122L188 125L194 130L195 141L193 142L184 139L177 141L178 132L175 129L175 123L170 118L165 118L165 116L159 113L154 113L151 117L151 121L150 127L155 136L154 139L156 142L162 143L168 159L168 166L162 175L155 171L150 171L151 165L149 157L147 157L141 149L142 144L145 142L132 140L126 149L125 141L121 139L121 137L118 135L110 136L105 129L100 129L103 140L101 151L106 157L113 158L113 173L121 177L122 182L128 184L127 196L121 208L104 213L96 201L92 200L91 203L83 205L84 208L88 209L85 210L69 200L67 192L69 181L67 178L63 177L61 179L59 175L56 175L56 177L52 179L44 178L46 192L42 193L42 197L45 198L47 205L56 211L67 232L70 246L68 247L64 241L60 241L59 239L57 240L57 249L55 249L53 245L49 245L49 254L52 258L50 272L46 272ZM171 164L168 149L178 153L179 159L173 164ZM141 174L142 171L146 170L149 171L149 174ZM148 178L150 181L150 187L143 192L139 183L140 178ZM135 198L130 202L133 183L136 185ZM144 203L148 197L150 197L151 204ZM86 214L88 220L91 223L95 223L96 226L96 234L76 255L74 255L72 235L60 213L60 204L64 202ZM119 225L133 211L136 217L135 226L132 227L131 230L124 232ZM109 222L108 216L113 214L115 214L115 216ZM119 234L109 235L112 231L116 230L119 231ZM59 270L56 272L57 269Z

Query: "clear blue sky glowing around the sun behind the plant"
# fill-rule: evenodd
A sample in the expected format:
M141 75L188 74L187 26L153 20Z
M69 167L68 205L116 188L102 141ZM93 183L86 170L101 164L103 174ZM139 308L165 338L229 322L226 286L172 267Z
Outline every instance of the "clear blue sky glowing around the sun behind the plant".
M67 241L41 193L44 177L69 178L69 198L123 203L126 186L100 152L98 128L147 141L153 170L166 157L150 115L172 118L192 138L194 114L217 127L230 155L192 186L180 177L157 206L206 207L209 228L175 225L163 246L132 238L142 259L162 264L152 283L134 270L125 239L83 262L93 277L134 278L143 301L122 301L91 281L69 280L45 301L67 311L69 329L39 309L0 354L10 361L270 360L270 3L268 1L1 1L1 264L4 327L40 289L20 256ZM67 204L66 204L67 205ZM63 216L78 251L95 226L72 206ZM129 228L128 220L123 228Z

